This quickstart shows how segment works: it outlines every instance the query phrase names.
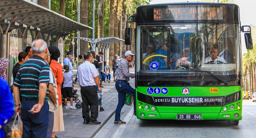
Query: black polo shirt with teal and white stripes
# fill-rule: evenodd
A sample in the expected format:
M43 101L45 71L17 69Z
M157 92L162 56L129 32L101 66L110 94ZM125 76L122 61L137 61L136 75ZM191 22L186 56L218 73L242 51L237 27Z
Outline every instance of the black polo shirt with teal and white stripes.
M49 64L42 57L33 55L32 59L21 65L13 85L20 88L22 97L37 99L39 83L47 83L45 98L48 98L49 72Z

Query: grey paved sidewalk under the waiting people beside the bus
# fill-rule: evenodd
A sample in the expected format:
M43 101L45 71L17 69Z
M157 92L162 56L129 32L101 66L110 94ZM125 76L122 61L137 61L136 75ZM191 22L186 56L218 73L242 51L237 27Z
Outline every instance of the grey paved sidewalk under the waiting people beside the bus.
M130 72L134 73L134 68L130 68ZM73 70L74 77L76 75L76 70ZM105 125L106 122L114 115L117 103L118 103L118 93L115 89L115 82L113 82L113 73L111 73L111 83L104 83L102 88L102 106L105 111L100 112L98 115L98 121L101 122L101 125L84 125L82 117L82 108L77 110L63 109L63 118L64 118L64 128L65 131L56 132L58 138L71 138L71 137L94 137L95 134ZM130 85L134 88L135 81L130 79ZM77 89L77 94L79 95L79 100L82 101L80 94L79 83L75 84L75 89ZM73 102L73 105L76 103ZM68 101L68 108L70 107L70 102ZM128 113L129 110L133 110L132 106L126 106L122 108L121 117ZM113 120L114 123L114 120Z

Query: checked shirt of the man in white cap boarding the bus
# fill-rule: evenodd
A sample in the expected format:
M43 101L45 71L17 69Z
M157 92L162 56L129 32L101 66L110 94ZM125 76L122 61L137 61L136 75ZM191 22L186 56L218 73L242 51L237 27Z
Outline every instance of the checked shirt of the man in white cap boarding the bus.
M124 81L129 81L130 77L134 78L135 73L130 73L129 72L129 62L125 59L122 60L117 67L117 77L116 79L118 80L124 80Z

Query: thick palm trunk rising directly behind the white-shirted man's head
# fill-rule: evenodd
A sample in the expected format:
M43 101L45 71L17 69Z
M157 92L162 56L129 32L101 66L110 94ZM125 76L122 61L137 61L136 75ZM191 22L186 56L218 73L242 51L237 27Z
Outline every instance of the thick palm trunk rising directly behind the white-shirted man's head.
M88 0L81 0L81 10L80 10L80 22L84 25L88 25ZM88 38L88 30L80 31L80 37ZM80 41L80 55L83 55L88 52L88 42L81 40Z

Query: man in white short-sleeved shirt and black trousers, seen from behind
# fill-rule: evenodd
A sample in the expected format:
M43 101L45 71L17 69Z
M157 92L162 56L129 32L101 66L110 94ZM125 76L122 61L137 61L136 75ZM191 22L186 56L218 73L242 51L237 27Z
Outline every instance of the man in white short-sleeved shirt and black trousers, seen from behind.
M84 54L84 63L78 68L77 77L81 87L81 96L83 101L82 115L83 124L101 124L97 121L98 118L98 94L95 85L98 86L98 91L101 92L99 84L99 73L96 67L92 64L92 54L86 52ZM85 73L86 72L86 73ZM89 115L89 107L91 107L91 117Z

